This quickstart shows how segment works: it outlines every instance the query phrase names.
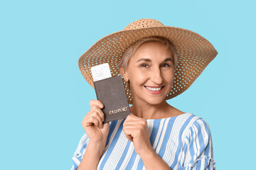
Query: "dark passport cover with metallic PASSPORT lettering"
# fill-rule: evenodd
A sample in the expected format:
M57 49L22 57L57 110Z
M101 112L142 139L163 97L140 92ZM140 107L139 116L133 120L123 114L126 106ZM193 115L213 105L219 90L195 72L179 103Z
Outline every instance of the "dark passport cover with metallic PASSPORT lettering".
M121 76L110 77L94 82L97 100L104 105L103 123L126 118L130 115L129 104Z

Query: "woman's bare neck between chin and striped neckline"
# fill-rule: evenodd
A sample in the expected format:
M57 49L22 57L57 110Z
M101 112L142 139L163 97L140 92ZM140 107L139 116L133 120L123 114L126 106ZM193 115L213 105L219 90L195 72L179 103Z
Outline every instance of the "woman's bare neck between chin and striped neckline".
M160 119L169 118L173 115L173 107L166 101L158 105L150 105L148 103L133 103L131 107L132 114L144 119Z

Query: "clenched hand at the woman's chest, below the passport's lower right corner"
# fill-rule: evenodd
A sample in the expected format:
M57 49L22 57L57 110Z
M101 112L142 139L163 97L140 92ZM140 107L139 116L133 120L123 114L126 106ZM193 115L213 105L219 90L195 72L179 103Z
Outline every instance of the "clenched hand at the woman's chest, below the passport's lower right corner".
M154 152L149 141L149 130L144 118L135 115L128 115L123 125L124 135L134 143L134 149L137 154L149 154Z

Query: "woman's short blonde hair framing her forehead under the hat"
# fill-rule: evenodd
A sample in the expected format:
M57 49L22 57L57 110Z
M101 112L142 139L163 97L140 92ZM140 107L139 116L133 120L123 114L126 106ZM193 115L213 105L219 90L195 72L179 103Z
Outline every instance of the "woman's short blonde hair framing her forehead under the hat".
M138 48L145 42L151 42L151 41L161 42L162 44L166 45L167 50L170 50L171 59L174 64L174 72L175 72L176 68L177 68L177 64L178 64L176 48L174 47L174 45L172 45L172 43L169 40L167 40L166 38L163 38L163 37L159 37L159 36L142 38L141 40L138 40L134 45L128 47L127 50L125 50L122 55L122 59L118 64L118 68L123 67L124 69L127 69L130 58L135 54L135 52L138 50Z

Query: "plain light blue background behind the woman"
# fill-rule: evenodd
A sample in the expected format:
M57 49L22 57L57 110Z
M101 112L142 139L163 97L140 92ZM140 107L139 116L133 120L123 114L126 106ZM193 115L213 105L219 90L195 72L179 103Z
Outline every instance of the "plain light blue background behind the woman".
M169 103L204 118L217 169L254 169L254 1L1 1L0 169L70 169L95 91L78 58L140 18L193 30L218 50Z

